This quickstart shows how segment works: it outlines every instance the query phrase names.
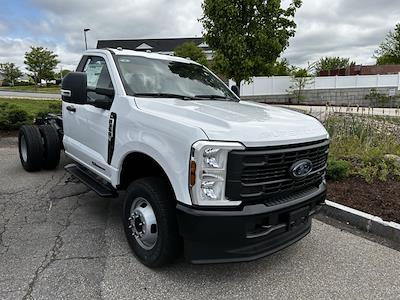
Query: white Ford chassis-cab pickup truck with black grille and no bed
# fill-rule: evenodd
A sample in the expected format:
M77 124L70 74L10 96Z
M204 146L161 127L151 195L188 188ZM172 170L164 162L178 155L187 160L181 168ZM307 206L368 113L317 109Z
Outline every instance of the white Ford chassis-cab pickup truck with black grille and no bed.
M193 61L123 49L84 53L62 82L62 117L19 134L27 171L66 170L123 193L134 254L162 266L249 261L310 232L324 203L329 136L313 117L241 101Z

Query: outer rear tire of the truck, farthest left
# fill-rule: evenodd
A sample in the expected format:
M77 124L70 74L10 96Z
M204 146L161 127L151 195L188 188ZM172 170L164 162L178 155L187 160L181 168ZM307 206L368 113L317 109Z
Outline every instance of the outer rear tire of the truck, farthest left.
M42 168L44 147L37 126L24 125L18 134L19 158L28 172L39 171Z

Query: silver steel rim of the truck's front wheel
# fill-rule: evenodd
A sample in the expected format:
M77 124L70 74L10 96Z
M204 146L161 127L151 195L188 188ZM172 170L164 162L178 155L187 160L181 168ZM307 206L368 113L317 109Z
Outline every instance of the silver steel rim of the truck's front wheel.
M154 210L145 198L133 200L128 220L132 236L138 244L143 249L153 249L158 239L158 225Z

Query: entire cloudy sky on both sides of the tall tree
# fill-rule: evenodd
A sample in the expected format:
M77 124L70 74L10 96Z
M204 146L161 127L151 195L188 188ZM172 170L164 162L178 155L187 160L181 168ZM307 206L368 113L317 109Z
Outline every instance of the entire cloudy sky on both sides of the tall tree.
M290 0L284 0L284 4ZM98 39L202 35L201 0L0 0L0 63L23 67L30 46L55 51L59 67L74 69ZM374 64L374 50L400 22L398 0L303 0L296 36L282 54L305 66L323 56Z

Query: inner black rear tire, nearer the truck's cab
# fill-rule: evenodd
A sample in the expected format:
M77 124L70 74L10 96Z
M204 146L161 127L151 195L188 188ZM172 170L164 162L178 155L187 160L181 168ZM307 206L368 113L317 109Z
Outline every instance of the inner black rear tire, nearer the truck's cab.
M57 168L60 162L60 138L57 130L51 125L39 126L40 134L43 139L44 155L42 167L45 170Z

